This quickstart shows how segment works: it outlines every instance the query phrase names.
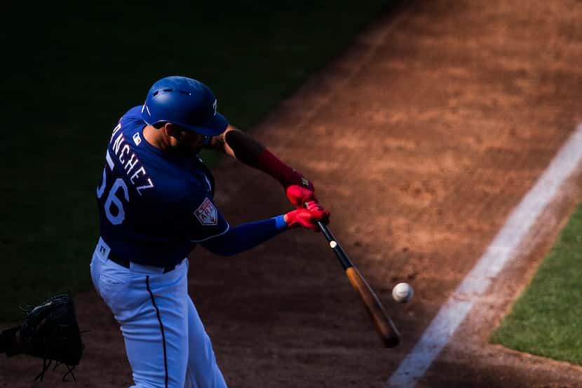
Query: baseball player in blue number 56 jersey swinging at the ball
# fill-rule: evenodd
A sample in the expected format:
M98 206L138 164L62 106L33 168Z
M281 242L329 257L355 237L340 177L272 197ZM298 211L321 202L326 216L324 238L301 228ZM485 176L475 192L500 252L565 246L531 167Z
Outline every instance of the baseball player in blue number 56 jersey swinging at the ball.
M202 148L271 175L296 209L231 227L212 199L212 175L196 156ZM330 213L309 180L229 126L212 91L184 76L156 81L144 105L121 117L105 161L91 276L121 326L133 387L226 387L188 295L187 255L196 245L234 255L286 229L316 231Z

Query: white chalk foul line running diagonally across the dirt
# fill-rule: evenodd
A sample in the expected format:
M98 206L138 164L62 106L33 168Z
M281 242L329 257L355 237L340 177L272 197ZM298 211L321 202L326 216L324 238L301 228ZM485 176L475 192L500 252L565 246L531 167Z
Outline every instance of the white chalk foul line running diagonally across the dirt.
M582 161L582 124L562 146L536 185L512 211L503 228L463 279L449 300L440 308L412 352L388 380L388 387L412 388L426 373L447 345L461 322L513 257L536 218L553 199L562 183Z

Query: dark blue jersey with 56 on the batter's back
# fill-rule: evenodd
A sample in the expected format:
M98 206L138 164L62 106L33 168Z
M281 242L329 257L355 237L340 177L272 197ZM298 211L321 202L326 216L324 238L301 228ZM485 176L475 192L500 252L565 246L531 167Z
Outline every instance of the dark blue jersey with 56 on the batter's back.
M165 267L229 224L212 200L212 175L202 161L150 145L145 126L138 106L114 128L97 186L100 230L116 255Z

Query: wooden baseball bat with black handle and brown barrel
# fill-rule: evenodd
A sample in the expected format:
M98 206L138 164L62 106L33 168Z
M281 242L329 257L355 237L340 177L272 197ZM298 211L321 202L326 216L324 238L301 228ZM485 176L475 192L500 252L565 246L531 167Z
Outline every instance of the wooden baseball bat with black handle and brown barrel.
M398 329L388 314L386 314L386 310L380 303L378 297L370 285L365 281L364 277L360 272L358 272L358 269L353 266L348 255L344 252L344 249L341 248L332 232L330 232L330 229L327 229L327 226L322 222L318 222L318 225L323 232L325 239L330 243L330 247L334 250L341 266L344 267L351 285L356 291L358 291L368 314L370 314L370 318L372 318L372 321L374 322L374 326L376 326L376 330L380 335L382 342L384 342L384 346L398 346L398 343L400 342L400 333L398 333Z

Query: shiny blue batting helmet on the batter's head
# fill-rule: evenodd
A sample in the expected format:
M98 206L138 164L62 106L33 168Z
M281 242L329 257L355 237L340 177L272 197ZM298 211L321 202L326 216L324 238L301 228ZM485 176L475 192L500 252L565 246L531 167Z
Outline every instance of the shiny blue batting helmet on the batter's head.
M216 112L216 102L214 93L204 83L185 76L167 76L149 89L142 119L149 125L165 121L201 135L215 136L229 125Z

